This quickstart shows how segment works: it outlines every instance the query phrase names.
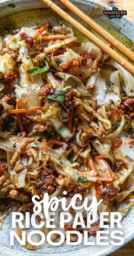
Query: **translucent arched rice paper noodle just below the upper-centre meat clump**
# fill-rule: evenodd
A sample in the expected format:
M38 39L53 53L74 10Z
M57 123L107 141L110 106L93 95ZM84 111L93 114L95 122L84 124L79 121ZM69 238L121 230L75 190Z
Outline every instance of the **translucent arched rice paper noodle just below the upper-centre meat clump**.
M61 77L61 79L64 80L64 86L69 86L69 85L72 86L72 88L74 88L75 90L78 90L81 96L89 95L89 92L87 92L85 86L83 85L83 82L77 79L76 76L72 76L62 72L58 72L55 75Z

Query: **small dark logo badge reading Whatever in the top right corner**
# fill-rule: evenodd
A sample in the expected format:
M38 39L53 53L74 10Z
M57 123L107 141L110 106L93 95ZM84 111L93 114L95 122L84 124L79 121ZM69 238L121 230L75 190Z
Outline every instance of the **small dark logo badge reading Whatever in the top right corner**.
M113 7L112 10L104 10L103 14L106 15L108 19L122 19L123 15L127 15L127 11L118 10L117 7Z

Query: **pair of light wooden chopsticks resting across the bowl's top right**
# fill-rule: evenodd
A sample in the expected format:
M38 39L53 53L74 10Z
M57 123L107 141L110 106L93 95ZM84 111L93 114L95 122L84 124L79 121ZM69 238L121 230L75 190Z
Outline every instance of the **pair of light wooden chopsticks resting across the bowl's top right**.
M78 23L72 16L67 14L64 10L58 7L51 0L43 0L43 2L49 6L53 11L55 11L58 15L64 18L67 22L77 28L83 35L86 36L91 42L96 44L99 48L102 49L103 52L106 52L113 60L122 65L127 71L134 75L134 66L129 63L128 60L134 62L134 53L125 47L121 42L119 42L114 36L110 35L106 30L104 30L101 26L99 26L94 20L89 18L85 13L78 9L78 7L74 6L68 0L60 0L60 2L64 3L69 10L75 13L79 18L81 18L86 24L88 24L94 31L96 31L99 35L102 36L108 43L114 46L120 53L122 53L128 60L124 59L123 56L119 55L118 52L115 52L114 49L109 47L106 43L102 42L101 39L97 38L93 33L91 33L87 28L83 27L80 23Z

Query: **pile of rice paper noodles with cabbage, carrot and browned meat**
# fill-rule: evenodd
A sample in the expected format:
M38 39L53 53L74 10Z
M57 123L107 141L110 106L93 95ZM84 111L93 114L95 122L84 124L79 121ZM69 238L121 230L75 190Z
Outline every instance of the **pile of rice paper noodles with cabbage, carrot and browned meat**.
M33 195L64 190L68 203L95 195L99 210L125 216L134 191L133 76L64 25L23 27L0 42L1 220L14 206L32 212Z

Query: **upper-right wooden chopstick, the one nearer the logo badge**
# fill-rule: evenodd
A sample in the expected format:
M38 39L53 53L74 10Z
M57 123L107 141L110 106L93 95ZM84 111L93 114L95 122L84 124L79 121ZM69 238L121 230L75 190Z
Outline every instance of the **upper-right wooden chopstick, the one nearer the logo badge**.
M83 20L87 25L89 25L91 28L93 28L94 31L96 31L99 35L102 36L108 43L110 43L112 46L114 46L120 53L122 53L125 57L128 58L128 60L131 60L134 62L134 53L128 49L124 44L118 41L114 36L112 36L110 33L108 33L104 28L99 26L96 22L94 22L93 19L91 19L89 16L87 16L83 11L78 9L73 3L71 3L68 0L60 0L61 3L64 3L66 7L68 7L69 10L71 10L73 13L75 13L80 19Z

